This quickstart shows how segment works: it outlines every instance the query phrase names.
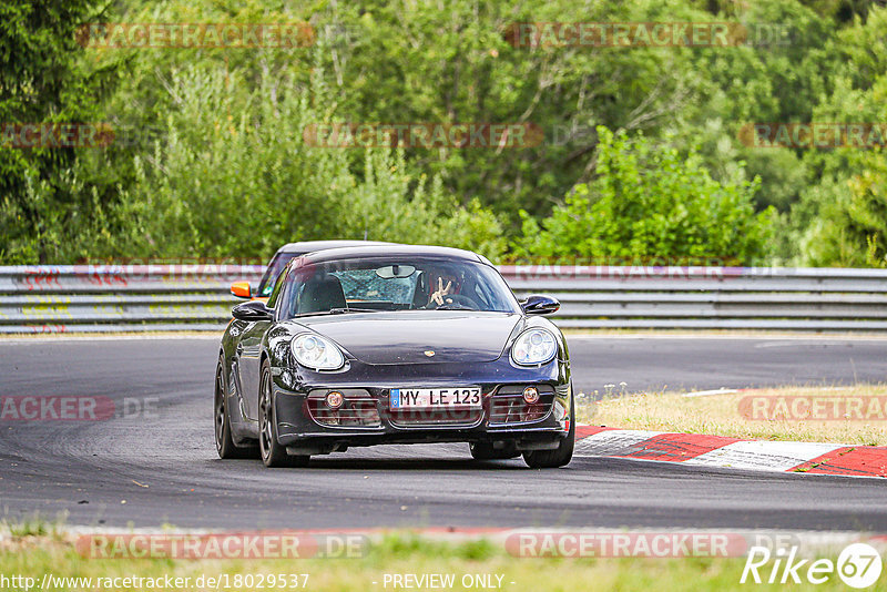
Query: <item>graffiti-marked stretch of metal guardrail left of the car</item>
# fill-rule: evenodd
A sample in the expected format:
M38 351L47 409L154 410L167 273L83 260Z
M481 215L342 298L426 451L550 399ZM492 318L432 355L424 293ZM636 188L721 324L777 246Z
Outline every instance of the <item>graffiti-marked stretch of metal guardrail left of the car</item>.
M218 330L262 265L0 267L0 334Z

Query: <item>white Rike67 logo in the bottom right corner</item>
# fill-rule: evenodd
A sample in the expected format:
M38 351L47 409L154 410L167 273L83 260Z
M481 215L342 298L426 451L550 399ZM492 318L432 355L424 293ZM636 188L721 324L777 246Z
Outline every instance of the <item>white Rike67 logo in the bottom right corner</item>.
M848 545L840 552L837 562L830 559L801 559L797 547L775 551L766 547L752 547L740 583L799 584L806 580L812 584L822 584L837 573L848 586L864 589L878 581L881 568L880 553L866 543Z

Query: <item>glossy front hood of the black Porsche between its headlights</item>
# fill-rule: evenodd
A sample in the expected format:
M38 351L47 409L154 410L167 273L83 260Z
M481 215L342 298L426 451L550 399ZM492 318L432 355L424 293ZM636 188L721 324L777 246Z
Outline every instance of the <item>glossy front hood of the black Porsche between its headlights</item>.
M302 317L297 323L365 364L429 364L496 360L522 318L514 313L401 310Z

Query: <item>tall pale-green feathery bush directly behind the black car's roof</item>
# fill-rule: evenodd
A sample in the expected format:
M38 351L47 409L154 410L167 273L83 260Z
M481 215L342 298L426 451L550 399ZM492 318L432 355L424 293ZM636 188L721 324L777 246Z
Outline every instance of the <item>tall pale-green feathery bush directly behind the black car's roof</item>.
M402 151L306 143L306 129L335 116L319 67L309 85L267 72L253 88L244 76L202 64L164 80L175 105L153 150L135 157L136 183L113 213L126 223L113 236L125 238L110 241L106 255L266 257L320 238L501 254L496 216L411 173ZM360 155L358 174L350 162Z

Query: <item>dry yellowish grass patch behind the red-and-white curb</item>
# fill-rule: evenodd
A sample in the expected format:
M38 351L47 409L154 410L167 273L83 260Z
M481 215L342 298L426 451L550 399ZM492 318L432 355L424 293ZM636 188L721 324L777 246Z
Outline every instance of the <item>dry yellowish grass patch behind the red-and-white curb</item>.
M580 423L623 429L887 446L887 385L786 387L697 397L687 395L650 392L604 397L597 402L584 400L578 404L577 417ZM781 405L781 399L785 406ZM817 418L823 417L822 414L814 411L807 411L809 415L803 417L803 410L812 409L814 400L822 401L823 408L817 411L836 418L820 420ZM861 400L858 408L861 415L844 412L850 400ZM765 401L767 412L750 414L755 409L755 401ZM798 401L795 411L801 414L792 411L795 401ZM835 405L840 412L834 414ZM786 409L789 417L783 412ZM878 415L877 410L885 411L885 415Z

